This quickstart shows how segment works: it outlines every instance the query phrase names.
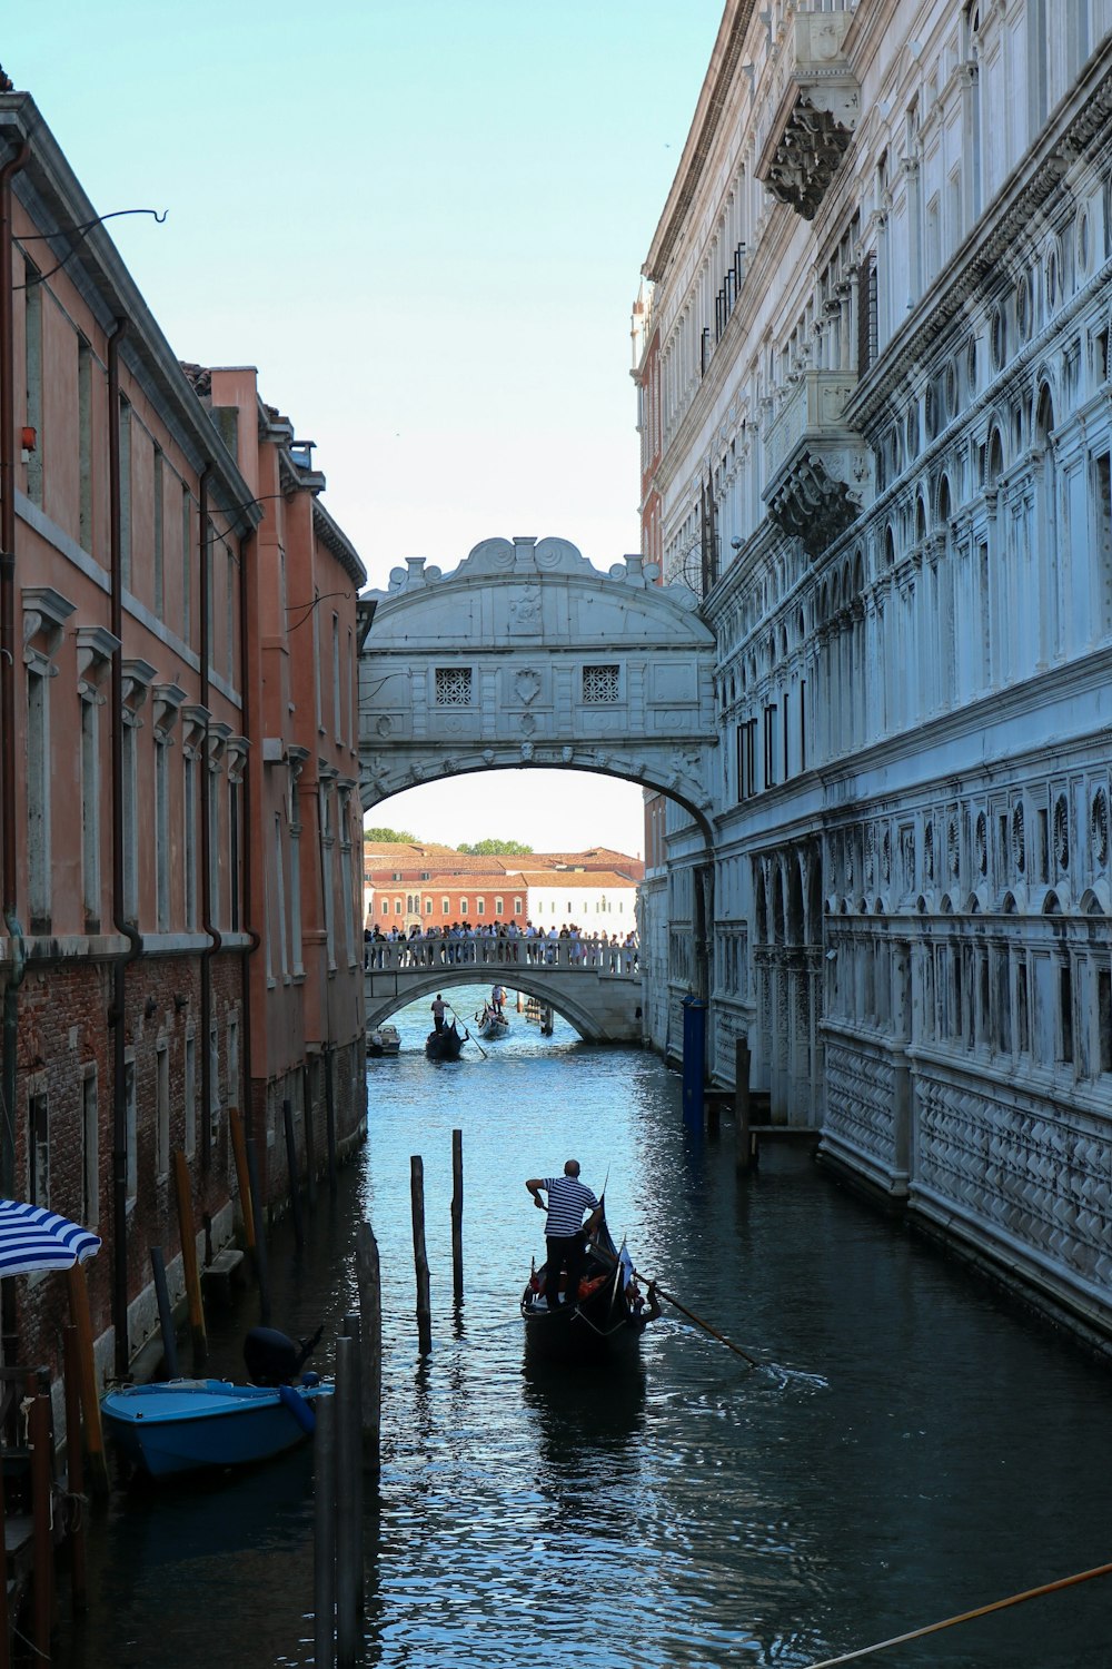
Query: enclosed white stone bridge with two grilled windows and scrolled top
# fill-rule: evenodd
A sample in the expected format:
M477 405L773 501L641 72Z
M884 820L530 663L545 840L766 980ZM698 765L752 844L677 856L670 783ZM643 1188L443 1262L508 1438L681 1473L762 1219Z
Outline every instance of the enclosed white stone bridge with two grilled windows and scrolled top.
M363 598L360 796L472 771L619 776L710 841L714 634L640 556L600 572L567 539L483 539L452 572L413 557Z

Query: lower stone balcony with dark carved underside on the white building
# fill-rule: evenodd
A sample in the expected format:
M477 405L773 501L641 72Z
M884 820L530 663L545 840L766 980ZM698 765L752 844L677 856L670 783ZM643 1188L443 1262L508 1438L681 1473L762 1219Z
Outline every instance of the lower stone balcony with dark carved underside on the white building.
M802 539L812 557L845 532L872 496L872 452L844 417L855 387L847 371L802 371L765 431L769 516Z

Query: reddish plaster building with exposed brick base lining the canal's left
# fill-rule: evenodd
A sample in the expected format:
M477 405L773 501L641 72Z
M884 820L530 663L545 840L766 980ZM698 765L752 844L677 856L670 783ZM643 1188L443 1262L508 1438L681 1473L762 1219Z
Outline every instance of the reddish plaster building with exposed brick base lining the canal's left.
M243 374L228 376L237 399L218 374L218 401L237 404ZM173 1153L218 1247L233 1232L228 1110L248 1125L258 1112L262 1150L265 1097L245 1077L268 1075L272 1026L328 1058L337 1038L350 1050L358 1006L337 943L353 946L358 908L343 656L362 569L315 502L323 479L298 469L288 436L257 434L253 387L247 404L242 434L213 424L32 98L0 93L0 1192L102 1235L90 1303L117 1372L155 1329L150 1247L182 1285ZM273 472L288 469L288 499L267 496L267 447L285 452ZM258 624L283 539L298 587L317 564L322 591L347 589L335 628ZM298 698L320 683L327 726L312 741L308 723L275 731L270 776L268 654L287 658ZM290 761L320 804L317 818L302 798L302 876L320 873L318 848L333 875L323 896L285 895L287 931L303 910L320 945L300 1031L260 998L258 971L282 930L260 903L282 896L267 871L292 875L292 799L263 838ZM325 980L345 991L328 1038ZM333 1113L352 1140L362 1103L343 1085ZM287 1190L280 1170L270 1190ZM65 1282L5 1282L3 1298L5 1354L52 1362Z

